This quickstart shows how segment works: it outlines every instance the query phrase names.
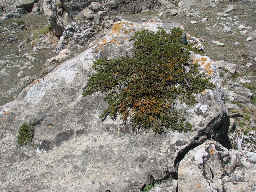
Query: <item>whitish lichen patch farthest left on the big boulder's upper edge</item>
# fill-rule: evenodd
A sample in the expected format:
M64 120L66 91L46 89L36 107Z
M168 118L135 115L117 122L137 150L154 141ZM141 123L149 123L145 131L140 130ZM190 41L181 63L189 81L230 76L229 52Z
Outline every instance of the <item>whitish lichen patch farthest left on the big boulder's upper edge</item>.
M27 93L27 102L35 104L39 100L41 100L46 91L52 86L48 80L44 81L43 79L39 79L35 84L32 85L30 90Z

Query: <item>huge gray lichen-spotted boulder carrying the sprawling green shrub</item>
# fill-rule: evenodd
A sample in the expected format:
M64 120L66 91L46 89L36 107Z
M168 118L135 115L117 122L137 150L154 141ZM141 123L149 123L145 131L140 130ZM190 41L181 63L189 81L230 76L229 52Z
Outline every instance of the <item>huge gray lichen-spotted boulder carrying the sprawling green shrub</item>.
M141 29L167 32L178 23L116 22L112 30L92 48L68 60L25 88L16 100L0 107L0 180L12 191L136 191L138 188L177 179L185 154L207 139L228 147L229 117L220 77L209 57L191 53L192 62L211 76L214 90L196 95L198 103L186 111L192 132L167 130L132 132L120 119L99 118L107 107L103 95L82 98L93 74L93 61L131 55L134 33ZM188 41L192 41L188 36ZM34 146L20 147L19 127L36 122ZM175 183L175 182L174 182Z

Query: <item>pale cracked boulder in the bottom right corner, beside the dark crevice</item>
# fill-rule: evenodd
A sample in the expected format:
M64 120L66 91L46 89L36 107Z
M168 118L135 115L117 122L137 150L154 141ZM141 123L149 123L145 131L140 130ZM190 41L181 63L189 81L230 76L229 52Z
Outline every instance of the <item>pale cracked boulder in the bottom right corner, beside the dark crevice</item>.
M256 153L228 151L207 140L190 150L178 170L178 191L255 191Z

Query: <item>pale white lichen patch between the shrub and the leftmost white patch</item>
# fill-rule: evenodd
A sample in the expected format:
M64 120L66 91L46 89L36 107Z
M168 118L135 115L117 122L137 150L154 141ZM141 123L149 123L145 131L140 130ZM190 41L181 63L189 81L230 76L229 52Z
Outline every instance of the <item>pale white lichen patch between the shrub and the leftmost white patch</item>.
M70 83L76 75L77 67L78 62L76 60L71 60L65 63L58 69L54 84L59 85L60 82Z

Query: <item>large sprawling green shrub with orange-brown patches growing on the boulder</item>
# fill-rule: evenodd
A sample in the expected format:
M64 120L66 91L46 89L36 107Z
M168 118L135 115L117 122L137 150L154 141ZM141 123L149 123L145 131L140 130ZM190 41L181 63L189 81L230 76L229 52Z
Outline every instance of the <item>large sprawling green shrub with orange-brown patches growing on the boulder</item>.
M167 34L142 30L134 40L132 56L108 60L99 59L92 68L97 71L84 88L83 96L104 93L108 108L100 117L120 114L124 124L128 117L132 130L152 129L156 134L166 129L192 131L185 122L184 111L173 108L179 98L188 106L196 103L194 93L201 93L214 85L210 77L200 73L198 64L189 62L192 44L182 44L183 30L173 28Z

